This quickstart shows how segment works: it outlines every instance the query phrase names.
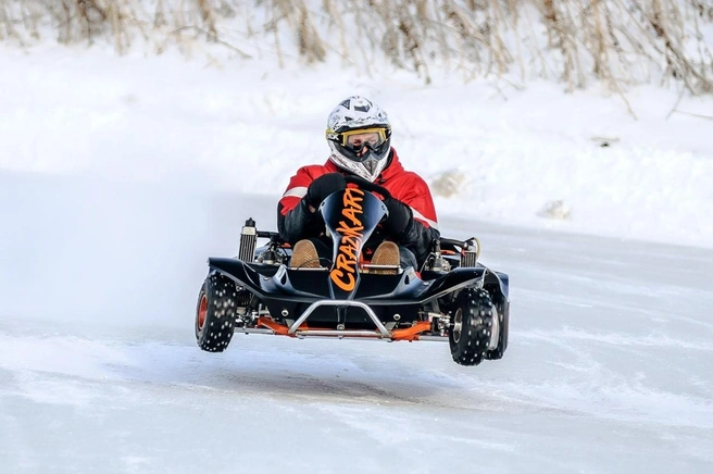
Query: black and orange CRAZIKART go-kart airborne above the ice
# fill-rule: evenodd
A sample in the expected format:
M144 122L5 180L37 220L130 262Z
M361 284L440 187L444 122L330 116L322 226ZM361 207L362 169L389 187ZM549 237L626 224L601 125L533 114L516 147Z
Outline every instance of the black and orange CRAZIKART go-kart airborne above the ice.
M440 238L421 269L372 265L364 242L388 215L387 189L348 177L318 207L332 237L332 262L290 266L291 248L252 219L238 255L210 258L196 309L198 346L224 351L234 333L307 338L449 341L462 365L501 359L508 348L509 277L483 265L477 238ZM258 239L267 239L258 248ZM375 269L374 266L379 266ZM378 271L376 271L378 270Z

